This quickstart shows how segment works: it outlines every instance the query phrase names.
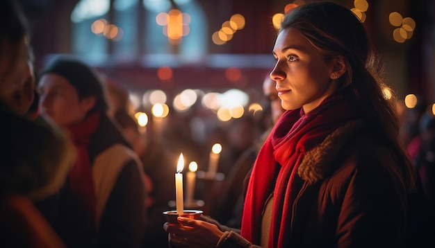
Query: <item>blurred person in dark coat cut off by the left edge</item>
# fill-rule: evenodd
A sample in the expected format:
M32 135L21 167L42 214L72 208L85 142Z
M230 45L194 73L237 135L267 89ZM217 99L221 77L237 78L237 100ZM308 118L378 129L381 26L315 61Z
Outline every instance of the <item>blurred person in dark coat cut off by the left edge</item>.
M74 152L55 125L24 118L34 81L17 2L0 1L0 22L0 247L65 247L34 203L62 186Z

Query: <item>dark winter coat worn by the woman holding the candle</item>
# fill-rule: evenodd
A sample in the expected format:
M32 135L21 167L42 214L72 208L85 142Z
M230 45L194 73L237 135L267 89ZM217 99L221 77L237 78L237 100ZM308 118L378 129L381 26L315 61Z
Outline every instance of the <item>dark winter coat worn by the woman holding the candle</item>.
M292 247L404 247L407 190L391 147L360 123L307 152L293 205ZM257 247L226 231L217 247Z

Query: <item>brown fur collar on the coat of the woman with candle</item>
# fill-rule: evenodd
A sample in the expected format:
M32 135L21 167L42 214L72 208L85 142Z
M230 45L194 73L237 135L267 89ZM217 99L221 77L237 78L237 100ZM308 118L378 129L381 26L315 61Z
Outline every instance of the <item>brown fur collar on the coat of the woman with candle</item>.
M336 170L334 161L342 154L347 141L363 127L363 121L352 121L329 134L325 141L306 152L297 170L299 177L313 184L331 175Z

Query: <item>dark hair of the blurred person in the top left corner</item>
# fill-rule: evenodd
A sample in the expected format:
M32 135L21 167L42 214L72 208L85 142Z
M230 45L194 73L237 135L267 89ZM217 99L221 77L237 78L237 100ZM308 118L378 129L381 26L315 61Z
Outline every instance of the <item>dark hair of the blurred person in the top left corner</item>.
M1 70L3 73L15 67L23 44L29 49L28 23L20 7L17 1L0 1L0 60L10 60L6 63L9 68ZM5 76L0 75L0 82Z

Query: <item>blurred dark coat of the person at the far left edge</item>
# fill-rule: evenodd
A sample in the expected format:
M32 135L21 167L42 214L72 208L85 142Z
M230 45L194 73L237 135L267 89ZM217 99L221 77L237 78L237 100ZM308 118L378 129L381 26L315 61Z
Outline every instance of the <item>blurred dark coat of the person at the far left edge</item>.
M66 247L33 202L63 186L72 143L56 125L0 114L0 247Z

